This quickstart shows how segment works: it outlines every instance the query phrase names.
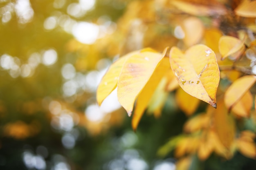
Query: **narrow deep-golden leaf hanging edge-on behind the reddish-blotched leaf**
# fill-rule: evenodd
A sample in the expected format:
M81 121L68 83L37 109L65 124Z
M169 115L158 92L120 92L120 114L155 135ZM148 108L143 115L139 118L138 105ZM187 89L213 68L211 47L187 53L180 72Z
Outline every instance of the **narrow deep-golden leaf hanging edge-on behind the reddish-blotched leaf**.
M152 98L152 95L154 94L160 80L163 78L163 76L166 74L166 71L171 69L171 66L169 64L168 57L164 57L158 64L157 68L153 72L152 76L148 80L145 87L142 89L141 93L139 93L134 114L132 117L132 128L133 130L137 129L137 126L139 124L139 121L148 107L148 103L150 102L150 99Z

